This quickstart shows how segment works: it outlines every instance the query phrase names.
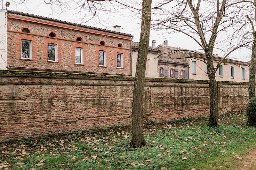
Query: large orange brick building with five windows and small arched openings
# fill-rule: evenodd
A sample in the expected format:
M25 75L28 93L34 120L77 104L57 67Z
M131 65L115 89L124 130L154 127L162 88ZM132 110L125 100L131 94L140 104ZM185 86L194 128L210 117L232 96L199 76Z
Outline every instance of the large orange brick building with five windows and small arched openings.
M131 75L132 35L7 11L9 70Z

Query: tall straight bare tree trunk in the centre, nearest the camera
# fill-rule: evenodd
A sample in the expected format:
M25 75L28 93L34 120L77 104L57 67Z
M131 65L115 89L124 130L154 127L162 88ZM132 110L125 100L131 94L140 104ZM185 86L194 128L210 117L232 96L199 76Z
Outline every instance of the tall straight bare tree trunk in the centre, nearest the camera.
M138 59L135 73L133 100L132 100L132 141L131 148L140 148L146 145L143 136L143 92L146 71L146 61L148 56L149 31L151 21L151 3L152 0L143 0L142 19L140 31L140 43Z

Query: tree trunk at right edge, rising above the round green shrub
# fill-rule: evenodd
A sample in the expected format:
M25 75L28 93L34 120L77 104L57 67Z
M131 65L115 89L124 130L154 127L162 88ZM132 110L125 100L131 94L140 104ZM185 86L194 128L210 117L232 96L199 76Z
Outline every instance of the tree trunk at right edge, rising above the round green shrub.
M253 34L252 59L249 74L249 99L255 97L255 71L256 71L256 35Z

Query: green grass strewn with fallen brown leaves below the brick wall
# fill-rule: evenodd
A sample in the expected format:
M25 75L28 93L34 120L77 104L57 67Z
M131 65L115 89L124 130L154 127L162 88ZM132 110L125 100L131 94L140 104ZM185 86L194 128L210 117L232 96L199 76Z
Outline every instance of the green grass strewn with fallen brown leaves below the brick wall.
M0 144L0 167L236 169L256 149L256 129L247 125L244 113L220 116L220 128L206 124L201 118L149 125L147 146L140 149L130 148L129 127L8 142Z

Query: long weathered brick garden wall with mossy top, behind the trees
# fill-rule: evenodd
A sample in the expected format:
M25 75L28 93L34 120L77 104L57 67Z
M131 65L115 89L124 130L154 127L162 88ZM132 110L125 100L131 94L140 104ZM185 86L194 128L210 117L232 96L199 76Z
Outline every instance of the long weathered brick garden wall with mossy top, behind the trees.
M0 142L131 125L132 77L0 70ZM207 81L147 78L144 123L209 115ZM220 115L245 110L248 84L218 82Z

